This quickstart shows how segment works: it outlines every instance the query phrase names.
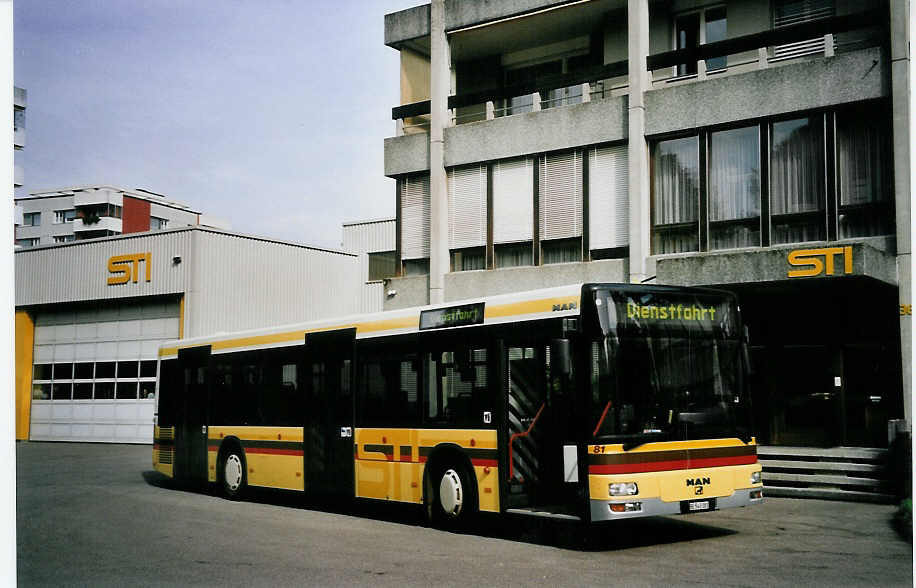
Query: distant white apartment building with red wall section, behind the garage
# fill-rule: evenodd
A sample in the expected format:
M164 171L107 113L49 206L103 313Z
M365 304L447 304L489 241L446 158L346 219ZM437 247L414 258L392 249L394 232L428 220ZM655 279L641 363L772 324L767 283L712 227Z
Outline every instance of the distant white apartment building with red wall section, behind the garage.
M148 190L78 186L31 192L16 199L22 220L17 247L36 247L166 228L208 225L228 228L223 220Z

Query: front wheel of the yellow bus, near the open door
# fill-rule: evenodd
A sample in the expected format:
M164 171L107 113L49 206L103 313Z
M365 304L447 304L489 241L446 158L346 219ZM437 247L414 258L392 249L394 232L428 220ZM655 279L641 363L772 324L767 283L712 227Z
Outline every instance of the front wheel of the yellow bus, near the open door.
M476 481L461 464L446 463L428 471L425 502L429 522L448 530L465 527L477 514Z

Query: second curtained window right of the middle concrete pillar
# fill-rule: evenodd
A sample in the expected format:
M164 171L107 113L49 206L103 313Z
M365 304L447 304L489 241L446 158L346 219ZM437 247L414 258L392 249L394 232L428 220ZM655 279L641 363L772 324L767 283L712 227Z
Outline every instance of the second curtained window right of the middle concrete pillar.
M760 245L759 127L709 133L709 248Z

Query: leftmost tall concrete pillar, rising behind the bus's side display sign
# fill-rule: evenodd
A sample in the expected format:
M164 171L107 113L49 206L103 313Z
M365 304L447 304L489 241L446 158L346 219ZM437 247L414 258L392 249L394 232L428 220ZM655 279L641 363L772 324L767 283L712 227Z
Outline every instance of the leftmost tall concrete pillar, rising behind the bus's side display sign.
M429 9L429 303L445 300L448 255L448 186L445 176L445 127L451 86L445 0L432 0Z

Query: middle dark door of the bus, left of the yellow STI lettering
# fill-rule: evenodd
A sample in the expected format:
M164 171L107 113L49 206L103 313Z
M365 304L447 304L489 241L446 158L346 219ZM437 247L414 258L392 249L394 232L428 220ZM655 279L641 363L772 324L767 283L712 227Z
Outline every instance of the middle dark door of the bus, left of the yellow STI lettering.
M353 347L356 329L305 338L305 490L353 496Z

